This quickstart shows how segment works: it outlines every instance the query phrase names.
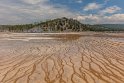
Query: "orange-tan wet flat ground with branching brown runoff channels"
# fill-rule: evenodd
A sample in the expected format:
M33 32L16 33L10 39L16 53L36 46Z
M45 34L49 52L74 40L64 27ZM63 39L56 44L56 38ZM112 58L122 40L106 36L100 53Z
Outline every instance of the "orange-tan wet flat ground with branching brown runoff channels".
M124 33L0 33L0 83L124 83Z

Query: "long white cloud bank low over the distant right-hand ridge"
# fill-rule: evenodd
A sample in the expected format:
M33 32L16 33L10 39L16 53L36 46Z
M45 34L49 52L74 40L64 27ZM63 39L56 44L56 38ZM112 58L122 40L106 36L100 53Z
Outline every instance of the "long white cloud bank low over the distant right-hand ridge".
M91 24L123 24L124 23L124 14L113 14L111 16L105 15L80 15L75 19L81 21L82 23L91 23Z

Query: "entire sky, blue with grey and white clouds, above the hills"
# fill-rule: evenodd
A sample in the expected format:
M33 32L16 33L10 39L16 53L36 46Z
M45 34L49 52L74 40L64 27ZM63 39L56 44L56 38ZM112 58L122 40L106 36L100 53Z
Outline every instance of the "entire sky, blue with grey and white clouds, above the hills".
M82 23L124 23L124 0L0 0L0 24L68 17Z

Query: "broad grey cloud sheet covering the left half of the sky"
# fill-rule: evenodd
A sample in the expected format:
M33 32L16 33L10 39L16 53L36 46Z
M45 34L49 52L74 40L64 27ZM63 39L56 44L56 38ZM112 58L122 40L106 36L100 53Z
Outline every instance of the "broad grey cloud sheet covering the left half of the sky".
M19 0L20 3L0 3L0 24L31 23L57 17L73 17L68 8L50 4L48 0ZM9 5L6 5L9 3Z

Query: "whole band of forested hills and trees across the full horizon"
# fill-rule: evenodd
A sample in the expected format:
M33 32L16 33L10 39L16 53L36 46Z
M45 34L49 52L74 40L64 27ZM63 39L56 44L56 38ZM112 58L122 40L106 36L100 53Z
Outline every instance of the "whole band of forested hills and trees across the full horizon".
M79 32L79 31L124 31L124 24L82 24L77 20L57 18L46 22L24 25L0 25L0 32Z

